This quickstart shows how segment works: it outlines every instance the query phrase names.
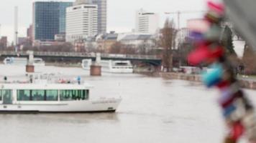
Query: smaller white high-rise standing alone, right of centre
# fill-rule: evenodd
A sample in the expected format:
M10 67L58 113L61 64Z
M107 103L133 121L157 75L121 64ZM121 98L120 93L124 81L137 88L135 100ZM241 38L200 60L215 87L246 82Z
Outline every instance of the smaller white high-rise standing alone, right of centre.
M159 29L159 15L140 9L136 13L135 32L155 34Z

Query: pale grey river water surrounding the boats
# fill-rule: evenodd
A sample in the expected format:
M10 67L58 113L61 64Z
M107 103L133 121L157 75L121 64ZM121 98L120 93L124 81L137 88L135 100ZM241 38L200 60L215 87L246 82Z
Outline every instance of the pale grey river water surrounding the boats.
M22 80L23 66L0 65L0 78ZM36 71L78 75L93 84L91 98L122 97L116 113L0 114L4 143L216 143L224 137L224 123L216 104L218 92L198 83L103 74L89 77L81 68L36 67ZM256 103L253 94L247 94Z

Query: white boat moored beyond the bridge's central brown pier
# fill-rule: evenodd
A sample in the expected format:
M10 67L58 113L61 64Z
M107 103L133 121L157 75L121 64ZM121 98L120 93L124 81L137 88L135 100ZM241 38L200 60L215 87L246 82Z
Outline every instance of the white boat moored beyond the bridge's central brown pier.
M92 64L91 59L83 59L83 69L90 70ZM101 71L119 74L133 73L133 66L131 61L114 61L114 60L101 60Z

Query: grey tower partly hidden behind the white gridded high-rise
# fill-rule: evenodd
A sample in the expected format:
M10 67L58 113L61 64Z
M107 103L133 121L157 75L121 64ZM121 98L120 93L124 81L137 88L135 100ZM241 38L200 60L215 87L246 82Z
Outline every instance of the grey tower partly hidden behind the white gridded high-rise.
M96 4L98 6L98 34L106 33L106 0L76 0L74 5Z

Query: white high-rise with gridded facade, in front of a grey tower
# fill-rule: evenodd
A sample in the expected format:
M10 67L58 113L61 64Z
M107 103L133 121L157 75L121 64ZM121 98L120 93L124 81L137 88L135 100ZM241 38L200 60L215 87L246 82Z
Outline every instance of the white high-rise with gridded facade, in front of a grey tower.
M70 6L66 13L66 41L75 42L98 34L98 6Z

